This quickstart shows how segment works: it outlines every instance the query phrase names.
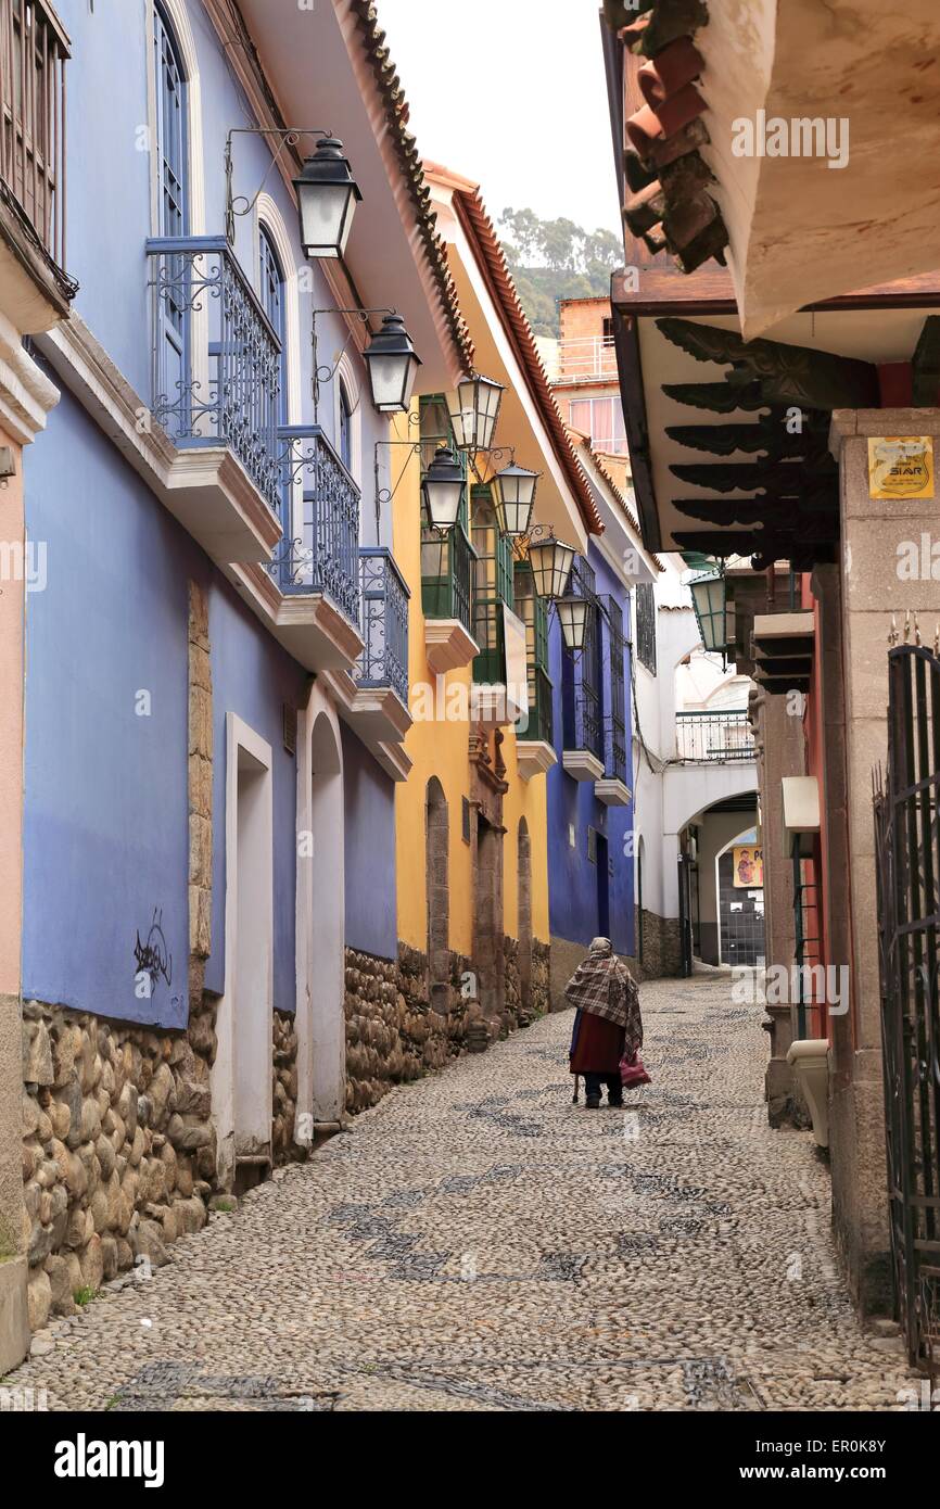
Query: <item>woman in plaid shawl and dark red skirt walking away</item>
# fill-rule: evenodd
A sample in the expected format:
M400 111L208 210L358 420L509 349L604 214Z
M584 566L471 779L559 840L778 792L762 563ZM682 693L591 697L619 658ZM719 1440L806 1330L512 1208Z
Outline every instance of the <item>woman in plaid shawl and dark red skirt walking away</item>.
M594 939L564 994L578 1008L569 1056L570 1073L584 1074L587 1109L597 1111L602 1083L607 1083L608 1106L622 1106L620 1059L625 1053L632 1059L643 1047L643 1020L637 982L614 954L610 939Z

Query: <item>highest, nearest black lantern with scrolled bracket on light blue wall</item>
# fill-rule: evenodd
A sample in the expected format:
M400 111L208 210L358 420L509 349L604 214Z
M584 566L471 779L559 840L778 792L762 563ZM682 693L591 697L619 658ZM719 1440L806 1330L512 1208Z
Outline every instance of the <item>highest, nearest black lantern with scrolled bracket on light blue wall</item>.
M278 151L250 199L246 195L232 195L232 136L279 137ZM231 128L225 137L225 235L229 246L235 244L235 219L250 214L278 158L287 148L296 146L302 136L320 137L297 178L291 180L297 195L303 255L336 258L346 252L353 213L362 195L343 155L343 142L332 131L317 125Z

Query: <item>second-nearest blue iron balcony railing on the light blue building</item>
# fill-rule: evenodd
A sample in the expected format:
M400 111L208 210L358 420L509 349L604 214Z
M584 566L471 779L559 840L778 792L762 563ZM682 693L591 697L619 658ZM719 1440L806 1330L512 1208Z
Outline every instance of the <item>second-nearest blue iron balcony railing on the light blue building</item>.
M359 489L318 426L282 426L278 442L285 530L267 569L282 593L323 593L358 625Z

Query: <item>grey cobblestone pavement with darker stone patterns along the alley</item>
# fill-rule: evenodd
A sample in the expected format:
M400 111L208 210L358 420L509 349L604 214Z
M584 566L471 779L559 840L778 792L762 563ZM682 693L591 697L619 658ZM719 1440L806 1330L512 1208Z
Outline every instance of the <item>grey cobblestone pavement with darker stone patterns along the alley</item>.
M51 1409L899 1408L825 1165L766 1126L760 1010L705 976L643 1011L637 1109L572 1106L548 1017L392 1091L8 1382Z

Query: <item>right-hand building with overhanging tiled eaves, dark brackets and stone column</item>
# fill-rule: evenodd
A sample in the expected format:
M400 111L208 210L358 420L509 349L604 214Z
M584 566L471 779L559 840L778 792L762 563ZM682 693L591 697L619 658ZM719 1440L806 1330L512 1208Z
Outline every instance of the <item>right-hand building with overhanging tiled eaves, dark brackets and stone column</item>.
M768 964L824 967L809 996L777 997L771 1111L806 1100L851 1289L863 1310L893 1302L923 1360L940 1331L935 972L922 967L937 662L913 626L898 643L892 617L932 635L940 608L940 281L916 166L937 146L923 85L937 17L868 0L839 23L754 11L744 36L726 0L604 6L625 214L614 341L644 542L751 563L744 579L715 564L733 617L709 617L757 684ZM825 69L807 68L824 53ZM881 88L911 101L907 175L872 145ZM774 151L748 146L768 124ZM798 128L794 152L782 128Z

